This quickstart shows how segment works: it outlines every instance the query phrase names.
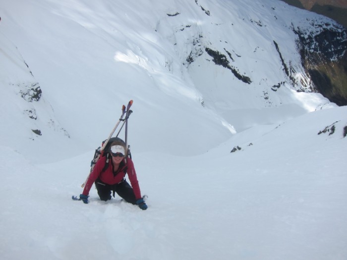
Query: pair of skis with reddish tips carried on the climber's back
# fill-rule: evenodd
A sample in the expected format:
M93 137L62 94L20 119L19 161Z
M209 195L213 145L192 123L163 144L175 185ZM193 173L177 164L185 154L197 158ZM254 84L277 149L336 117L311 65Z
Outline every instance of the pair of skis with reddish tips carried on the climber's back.
M129 103L127 104L127 106L125 106L125 105L122 106L122 113L121 113L121 115L120 115L118 121L116 122L116 125L115 125L114 129L112 129L112 131L111 131L111 133L110 133L110 135L109 135L109 138L104 142L104 144L103 144L103 146L102 146L102 148L101 148L101 150L100 150L100 154L99 154L98 157L95 159L95 161L97 161L97 160L99 159L99 157L103 154L103 151L105 150L105 148L106 148L107 144L109 143L111 137L112 137L113 134L115 133L117 127L118 127L119 124L120 124L120 122L123 122L123 124L121 125L121 127L120 127L120 129L119 129L119 131L118 131L118 133L117 133L116 136L119 135L120 130L123 128L123 126L124 126L124 124L125 124L125 140L124 140L124 141L125 141L125 149L126 149L126 151L125 151L125 156L128 154L127 130L128 130L128 118L129 118L130 114L132 113L132 110L130 110L130 107L131 107L132 103L133 103L133 101L130 100ZM125 115L125 118L123 119L124 115ZM86 185L86 183L87 183L87 181L88 181L88 179L89 179L89 176L90 176L91 172L92 172L93 169L94 169L94 166L95 166L95 164L93 164L93 165L91 166L90 172L89 172L89 174L88 174L86 180L85 180L85 181L83 182L83 184L81 185L82 188ZM73 199L73 198L72 198L72 199Z

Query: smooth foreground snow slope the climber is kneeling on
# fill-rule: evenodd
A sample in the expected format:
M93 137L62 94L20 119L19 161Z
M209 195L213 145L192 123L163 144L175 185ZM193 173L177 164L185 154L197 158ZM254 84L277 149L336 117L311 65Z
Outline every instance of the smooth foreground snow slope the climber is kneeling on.
M201 156L136 153L146 211L95 189L88 205L70 199L92 153L32 164L1 146L1 258L346 259L346 112L258 126Z

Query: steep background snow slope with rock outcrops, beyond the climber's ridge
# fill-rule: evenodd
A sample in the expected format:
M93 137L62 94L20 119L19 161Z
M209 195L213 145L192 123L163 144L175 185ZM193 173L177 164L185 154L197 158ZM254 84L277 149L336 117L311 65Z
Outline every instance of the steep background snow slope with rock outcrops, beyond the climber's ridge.
M296 70L298 82L305 82L291 27L303 30L311 28L312 21L331 20L281 1L13 0L0 8L3 52L17 50L16 62L22 62L13 70L10 59L0 61L2 74L12 75L1 77L3 88L11 90L2 104L22 103L20 91L32 84L42 90L42 101L12 109L22 117L23 110L35 109L36 121L28 116L18 120L25 125L20 134L26 138L15 138L15 127L1 135L3 144L31 154L30 159L51 145L49 139L59 140L61 148L71 139L67 142L73 152L54 154L61 159L93 149L100 136L107 135L104 129L112 129L121 104L130 99L141 111L133 114L133 141L140 148L152 146L173 155L198 155L254 125L334 106L321 95L293 91L304 86L289 84L273 43L278 43L287 66ZM252 82L244 83L214 64L206 48L229 52L230 65ZM194 59L190 64L189 57ZM17 77L25 64L31 74ZM281 87L272 90L278 84ZM54 113L47 114L52 109ZM152 118L164 121L153 127ZM11 119L4 124L10 125ZM35 129L41 131L40 138ZM201 135L187 134L191 130ZM163 132L179 136L181 143L162 138L153 144ZM184 143L193 145L182 151Z

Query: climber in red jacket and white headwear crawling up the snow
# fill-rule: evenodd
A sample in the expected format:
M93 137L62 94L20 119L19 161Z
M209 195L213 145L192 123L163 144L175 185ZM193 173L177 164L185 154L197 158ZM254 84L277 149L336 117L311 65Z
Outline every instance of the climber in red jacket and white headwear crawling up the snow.
M131 158L125 156L125 142L118 137L112 139L111 145L107 145L105 149L106 156L101 156L95 164L79 198L87 204L89 191L94 183L100 200L111 200L113 191L114 197L117 193L124 201L145 210L147 205L141 197L134 164ZM109 165L104 169L107 159L109 159ZM131 186L124 178L126 174Z

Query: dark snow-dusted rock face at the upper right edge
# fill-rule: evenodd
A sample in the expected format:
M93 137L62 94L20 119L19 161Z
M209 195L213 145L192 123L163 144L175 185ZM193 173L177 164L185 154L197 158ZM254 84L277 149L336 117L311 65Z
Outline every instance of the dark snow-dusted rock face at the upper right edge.
M331 102L347 105L347 29L313 26L317 30L293 29L302 66L318 92Z

